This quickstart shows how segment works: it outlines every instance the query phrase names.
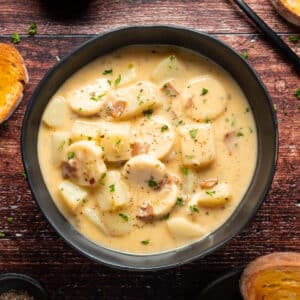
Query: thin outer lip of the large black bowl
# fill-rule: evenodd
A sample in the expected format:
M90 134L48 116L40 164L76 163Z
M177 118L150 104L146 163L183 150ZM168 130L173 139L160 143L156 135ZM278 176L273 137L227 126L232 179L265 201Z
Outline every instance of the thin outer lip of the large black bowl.
M25 135L26 135L26 129L28 126L28 120L30 117L30 113L31 113L31 109L35 103L35 98L40 94L40 92L42 91L44 85L46 84L46 82L48 81L49 77L51 77L51 75L55 74L55 72L57 72L57 70L59 68L61 68L64 64L68 63L68 61L75 56L76 54L78 54L79 52L83 51L86 47L88 47L89 45L95 43L97 40L102 39L106 36L112 35L112 34L117 34L117 33L122 33L122 32L126 32L128 30L151 30L151 29L155 29L155 30L175 30L175 31L181 31L181 32L186 32L186 33L193 33L196 35L200 35L203 36L206 39L210 39L212 42L214 42L215 44L217 44L218 46L221 46L223 48L227 48L227 50L229 50L230 52L232 52L235 56L237 56L237 58L239 58L243 64L246 66L247 71L249 72L249 74L251 76L253 76L256 80L256 82L258 83L261 91L263 92L265 99L267 100L267 104L268 104L268 108L270 109L271 112L271 117L272 117L272 127L274 129L274 131L272 132L273 134L273 155L272 155L272 168L268 174L268 180L264 186L263 191L260 194L260 199L257 201L255 207L253 208L253 210L251 211L251 213L249 213L248 217L246 220L242 221L242 225L240 225L238 228L233 230L233 233L228 235L226 238L222 239L221 242L216 243L213 246L210 246L209 249L205 249L204 251L202 251L201 253L198 253L196 255L190 256L188 258L184 258L181 260L178 260L174 263L166 263L166 264L160 264L160 265L155 265L155 266L151 266L151 267L144 267L144 266L132 266L132 265L124 265L118 262L112 262L112 261L106 261L105 259L96 257L95 255L85 251L84 249L82 249L80 246L76 245L76 242L72 241L72 239L67 236L62 230L60 230L57 225L52 221L51 217L47 215L47 213L43 210L43 208L41 207L41 203L38 200L38 197L36 195L35 192L35 187L33 185L33 183L31 182L31 178L30 176L27 176L27 180L29 183L29 187L31 190L31 193L33 195L33 198L35 200L35 202L37 203L38 207L40 208L40 210L42 211L43 215L45 216L45 218L47 219L47 221L51 224L51 226L54 228L54 230L58 233L58 235L60 237L63 238L63 240L70 245L73 249L75 249L77 252L83 254L85 257L97 262L97 263L102 263L106 266L109 267L114 267L117 269L122 269L122 270L139 270L139 271L153 271L153 270L162 270L162 269L169 269L169 268L173 268L173 267L177 267L177 266L181 266L183 264L186 264L188 262L191 262L193 260L205 257L213 252L215 252L218 248L224 246L226 243L228 243L228 241L232 240L237 234L239 234L248 224L249 222L253 219L253 217L255 216L256 212L258 211L259 207L261 206L261 204L263 203L274 178L274 174L275 174L275 170L276 170L276 165L277 165L277 159L278 159L278 123L277 123L277 116L275 113L275 109L274 109L274 105L273 102L271 100L271 97L269 96L269 93L266 89L266 87L264 86L262 80L260 79L260 77L258 76L258 74L256 73L256 71L252 68L252 66L249 64L249 62L244 59L242 57L242 55L240 53L238 53L236 50L234 50L231 46L227 45L226 43L224 43L223 41L217 39L216 37L214 37L213 35L201 32L199 30L196 29L191 29L188 28L186 26L176 26L176 25L138 25L138 26L122 26L122 27L118 27L118 28L114 28L112 30L109 31L105 31L101 34L98 34L96 36L94 36L91 39L88 39L87 41L81 43L78 47L76 47L73 51L69 52L67 55L65 55L59 62L57 62L53 67L50 68L49 71L46 72L46 74L43 76L42 80L38 83L37 87L35 88L29 102L26 108L26 112L24 115L24 119L23 119L23 123L22 123L22 132L21 132L21 154L22 154L22 162L23 162L23 166L24 166L24 170L26 172L26 174L28 174L28 169L27 169L27 164L26 164L26 156L27 156L27 151L25 149ZM143 43L136 43L136 45L142 45ZM170 44L163 44L163 43L157 43L157 44L161 44L161 45L170 45ZM129 44L124 44L122 47L128 46ZM150 44L149 44L150 45ZM173 46L176 46L176 44L174 43ZM177 45L178 47L178 45ZM179 46L180 47L180 46ZM184 48L184 47L183 47ZM116 48L117 49L117 48ZM115 50L116 50L115 49ZM189 47L186 47L186 49L190 49ZM191 49L190 49L191 50ZM195 50L193 50L195 51ZM99 57L102 54L99 55ZM203 54L200 53L200 55L203 56ZM205 55L204 55L205 56ZM94 58L93 58L94 59ZM92 61L93 59L91 59L90 61ZM210 59L210 58L209 58ZM210 59L211 60L211 59ZM216 62L215 62L216 63ZM219 63L217 63L218 66L220 66ZM222 67L222 66L221 66ZM223 67L222 67L223 68ZM77 69L77 71L80 68ZM226 72L228 72L230 74L230 76L232 76L232 78L236 81L236 79L233 77L233 75L227 71L225 69ZM76 71L73 72L73 74ZM65 79L66 80L66 79ZM241 88L242 89L242 88ZM243 89L242 89L243 90ZM256 167L255 170L257 168L257 162L256 162ZM254 171L255 173L255 171ZM253 174L254 174L253 173ZM253 180L253 177L252 177ZM252 180L249 184L249 187L251 186ZM248 187L248 189L249 189ZM247 190L248 191L248 190ZM246 193L247 193L246 191ZM245 193L245 194L246 194ZM244 195L245 196L245 195ZM244 197L243 197L244 198ZM241 200L242 202L242 200ZM240 204L241 204L240 202ZM239 204L239 205L240 205ZM229 218L225 221L225 223L230 219L230 217L234 214L234 212L238 209L239 205L235 208L235 210L232 212L232 214L229 216ZM57 208L59 214L62 215L62 213L59 211L59 209ZM62 215L63 216L63 215ZM63 216L64 217L64 216ZM225 224L224 223L224 224ZM223 225L224 225L223 224ZM219 226L218 228L216 228L213 232L211 232L209 235L211 235L212 233L218 231L220 228L223 227L223 225ZM76 229L75 229L76 230ZM80 233L81 234L81 233ZM208 235L208 236L209 236ZM184 245L181 246L179 248L176 249L169 249L167 251L163 251L163 252L159 252L159 253L145 253L145 254L135 254L135 253L127 253L124 251L119 251L119 250L115 250L115 249L109 249L106 248L105 246L102 245L98 245L92 241L90 241L88 238L86 238L84 235L81 234L81 236L83 236L88 242L91 242L94 245L97 245L98 247L104 249L104 250L108 250L111 252L114 252L116 254L122 254L122 255L126 255L126 256L132 256L132 257L155 257L155 256L160 256L163 255L164 253L171 253L171 252L176 252L176 251L181 251L182 249L184 249L186 246L192 245L197 243L197 241L193 242L192 244L188 244L188 245Z

